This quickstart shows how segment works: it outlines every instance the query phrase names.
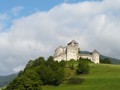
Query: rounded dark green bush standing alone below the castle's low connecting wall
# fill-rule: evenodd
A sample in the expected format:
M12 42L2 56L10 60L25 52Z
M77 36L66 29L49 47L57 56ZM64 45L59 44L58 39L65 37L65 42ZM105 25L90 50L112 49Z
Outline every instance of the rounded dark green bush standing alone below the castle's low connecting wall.
M87 74L89 73L90 67L86 59L79 59L79 63L77 65L76 73L79 74Z

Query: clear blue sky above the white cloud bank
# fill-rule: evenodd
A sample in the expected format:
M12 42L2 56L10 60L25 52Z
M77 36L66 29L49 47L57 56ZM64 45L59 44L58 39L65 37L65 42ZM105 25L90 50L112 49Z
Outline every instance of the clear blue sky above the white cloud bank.
M1 0L0 14L9 14L9 19L4 20L5 27L9 28L13 19L27 16L37 11L45 12L62 3L77 3L83 1L85 0ZM12 9L17 7L21 9L17 12L17 15L13 15Z

